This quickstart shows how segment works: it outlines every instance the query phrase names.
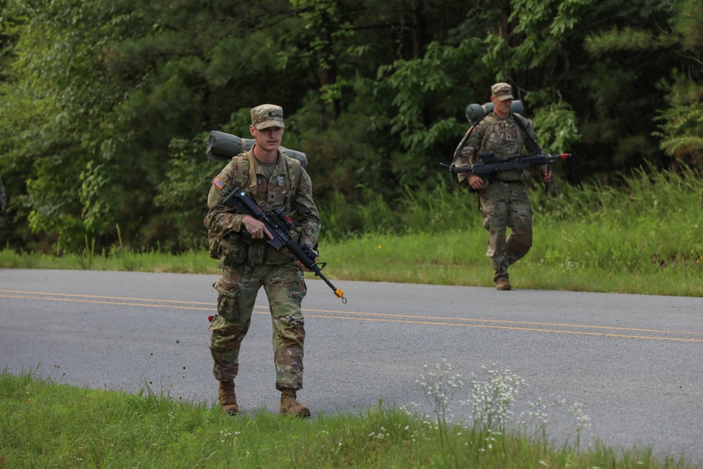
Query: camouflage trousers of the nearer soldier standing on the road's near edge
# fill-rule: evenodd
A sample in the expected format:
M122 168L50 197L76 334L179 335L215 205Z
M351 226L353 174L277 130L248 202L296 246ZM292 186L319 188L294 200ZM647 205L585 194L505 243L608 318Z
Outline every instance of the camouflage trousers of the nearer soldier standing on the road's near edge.
M217 316L210 323L213 374L228 381L239 372L239 349L252 323L257 293L264 287L273 324L273 363L276 389L303 387L305 328L300 304L307 287L297 264L259 264L243 269L222 269L212 285L219 293Z

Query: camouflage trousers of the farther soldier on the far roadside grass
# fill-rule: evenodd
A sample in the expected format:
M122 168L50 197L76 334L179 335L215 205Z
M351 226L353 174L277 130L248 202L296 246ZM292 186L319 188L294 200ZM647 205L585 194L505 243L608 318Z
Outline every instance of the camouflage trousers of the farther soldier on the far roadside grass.
M508 278L508 267L532 247L532 210L523 181L492 181L479 191L484 228L489 232L488 251L495 276ZM507 229L510 236L506 239Z

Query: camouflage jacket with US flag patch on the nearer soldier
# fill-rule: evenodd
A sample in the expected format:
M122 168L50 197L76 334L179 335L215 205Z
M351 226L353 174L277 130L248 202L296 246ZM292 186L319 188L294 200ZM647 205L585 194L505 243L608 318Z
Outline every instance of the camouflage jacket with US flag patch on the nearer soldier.
M243 167L238 167L239 155L232 158L213 180L207 195L208 212L203 224L221 238L220 266L239 266L271 262L285 264L295 262L288 249L276 251L265 240L252 240L240 234L244 214L230 207L219 205L220 200L233 186L237 186L239 174L243 175L241 187L264 212L273 208L283 210L299 226L290 231L290 236L299 244L314 247L320 235L320 217L312 198L312 183L300 162L289 158L278 150L278 163L273 168L271 179L266 180L264 171L254 158L253 148L243 153ZM255 177L251 177L255 175ZM214 181L219 179L219 184ZM224 183L224 184L223 184ZM212 251L212 245L211 245Z

